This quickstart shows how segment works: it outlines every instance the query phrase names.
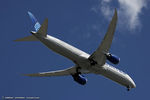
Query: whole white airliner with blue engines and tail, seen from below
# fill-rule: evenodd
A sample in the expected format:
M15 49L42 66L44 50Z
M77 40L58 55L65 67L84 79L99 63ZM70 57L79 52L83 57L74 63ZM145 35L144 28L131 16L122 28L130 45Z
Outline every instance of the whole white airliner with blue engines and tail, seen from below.
M73 61L75 65L63 70L25 74L25 76L51 77L71 75L74 81L81 85L85 85L87 83L87 78L83 76L83 74L94 73L125 86L128 91L136 87L135 82L128 74L106 63L106 61L109 61L117 65L120 62L119 57L109 52L118 19L116 9L101 44L91 55L58 38L48 35L47 18L44 20L43 24L40 25L31 12L28 12L28 14L32 20L35 31L31 31L31 36L20 38L15 41L40 41L52 51Z

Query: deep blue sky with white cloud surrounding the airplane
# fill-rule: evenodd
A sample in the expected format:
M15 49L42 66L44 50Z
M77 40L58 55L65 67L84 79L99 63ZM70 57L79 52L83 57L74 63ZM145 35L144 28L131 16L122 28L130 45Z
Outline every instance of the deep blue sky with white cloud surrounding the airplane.
M1 0L0 96L39 96L41 100L149 99L149 18L146 0ZM133 5L132 5L133 4ZM40 42L13 42L30 35L27 11L43 22L48 34L91 54L100 44L117 8L119 21L111 52L121 58L115 66L127 72L137 87L130 92L100 75L86 75L81 86L71 76L31 78L25 73L63 69L74 64Z

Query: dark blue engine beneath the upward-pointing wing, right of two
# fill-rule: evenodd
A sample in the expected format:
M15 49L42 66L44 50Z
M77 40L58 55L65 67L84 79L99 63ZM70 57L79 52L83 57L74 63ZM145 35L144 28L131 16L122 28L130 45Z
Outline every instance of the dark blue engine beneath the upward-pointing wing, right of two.
M120 62L119 57L117 57L113 54L110 54L110 53L106 53L106 58L107 58L107 60L109 60L113 64L118 64Z

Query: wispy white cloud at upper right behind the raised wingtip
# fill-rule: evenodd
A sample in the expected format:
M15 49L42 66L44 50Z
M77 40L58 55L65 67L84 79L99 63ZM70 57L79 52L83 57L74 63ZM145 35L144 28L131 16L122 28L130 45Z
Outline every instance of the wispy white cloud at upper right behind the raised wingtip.
M113 0L100 0L98 5L92 10L96 13L102 13L108 20L111 19L114 8L118 10L119 24L127 27L129 30L135 30L141 27L140 14L143 8L146 8L146 0L117 0L118 7L114 6Z

